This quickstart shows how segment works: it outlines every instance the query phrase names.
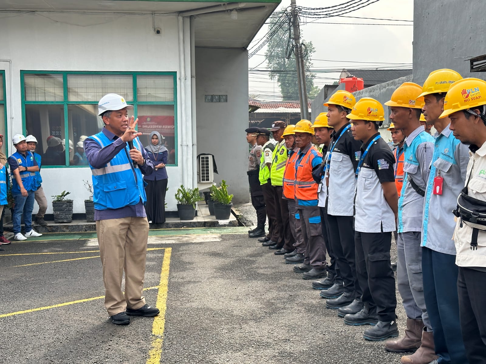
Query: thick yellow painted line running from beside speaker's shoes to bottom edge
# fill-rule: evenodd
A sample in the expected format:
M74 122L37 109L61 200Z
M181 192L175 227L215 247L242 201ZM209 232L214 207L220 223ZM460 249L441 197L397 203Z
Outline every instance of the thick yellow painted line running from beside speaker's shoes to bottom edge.
M167 310L167 291L169 288L171 253L172 248L165 249L156 303L156 307L160 310L160 314L154 317L154 323L152 324L152 348L149 351L149 358L147 359L146 364L160 364L162 344L164 342L165 312Z

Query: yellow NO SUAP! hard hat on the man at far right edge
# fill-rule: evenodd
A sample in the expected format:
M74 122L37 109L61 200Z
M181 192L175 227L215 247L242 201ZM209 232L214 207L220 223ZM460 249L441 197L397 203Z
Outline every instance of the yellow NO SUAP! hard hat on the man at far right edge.
M457 111L486 104L486 82L477 78L464 78L451 84L444 100L444 118Z

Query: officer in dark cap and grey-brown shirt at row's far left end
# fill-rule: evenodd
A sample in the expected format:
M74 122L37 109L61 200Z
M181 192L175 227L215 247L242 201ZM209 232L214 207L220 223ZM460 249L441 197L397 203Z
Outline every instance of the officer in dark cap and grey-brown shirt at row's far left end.
M259 238L265 236L265 220L267 212L265 209L265 200L261 190L260 172L261 146L257 143L257 127L248 128L246 132L246 141L252 145L250 155L248 156L248 183L250 184L251 204L257 211L257 227L248 232L250 238Z

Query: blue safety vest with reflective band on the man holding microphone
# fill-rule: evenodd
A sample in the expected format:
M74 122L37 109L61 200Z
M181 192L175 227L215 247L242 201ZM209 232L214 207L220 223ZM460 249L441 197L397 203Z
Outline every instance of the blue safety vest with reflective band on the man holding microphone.
M114 142L103 132L89 137L96 141L101 148ZM143 149L139 138L134 139L133 145L140 152ZM145 204L147 196L143 186L143 176L140 168L134 168L129 158L130 149L120 150L113 159L101 168L93 168L93 201L96 210L119 209L125 206L136 205L140 199Z

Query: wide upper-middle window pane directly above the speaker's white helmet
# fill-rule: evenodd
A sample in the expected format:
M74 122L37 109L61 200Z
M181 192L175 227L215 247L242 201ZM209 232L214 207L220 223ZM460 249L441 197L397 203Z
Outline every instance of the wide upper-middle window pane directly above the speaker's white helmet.
M69 101L99 101L110 93L133 101L133 75L68 75Z

